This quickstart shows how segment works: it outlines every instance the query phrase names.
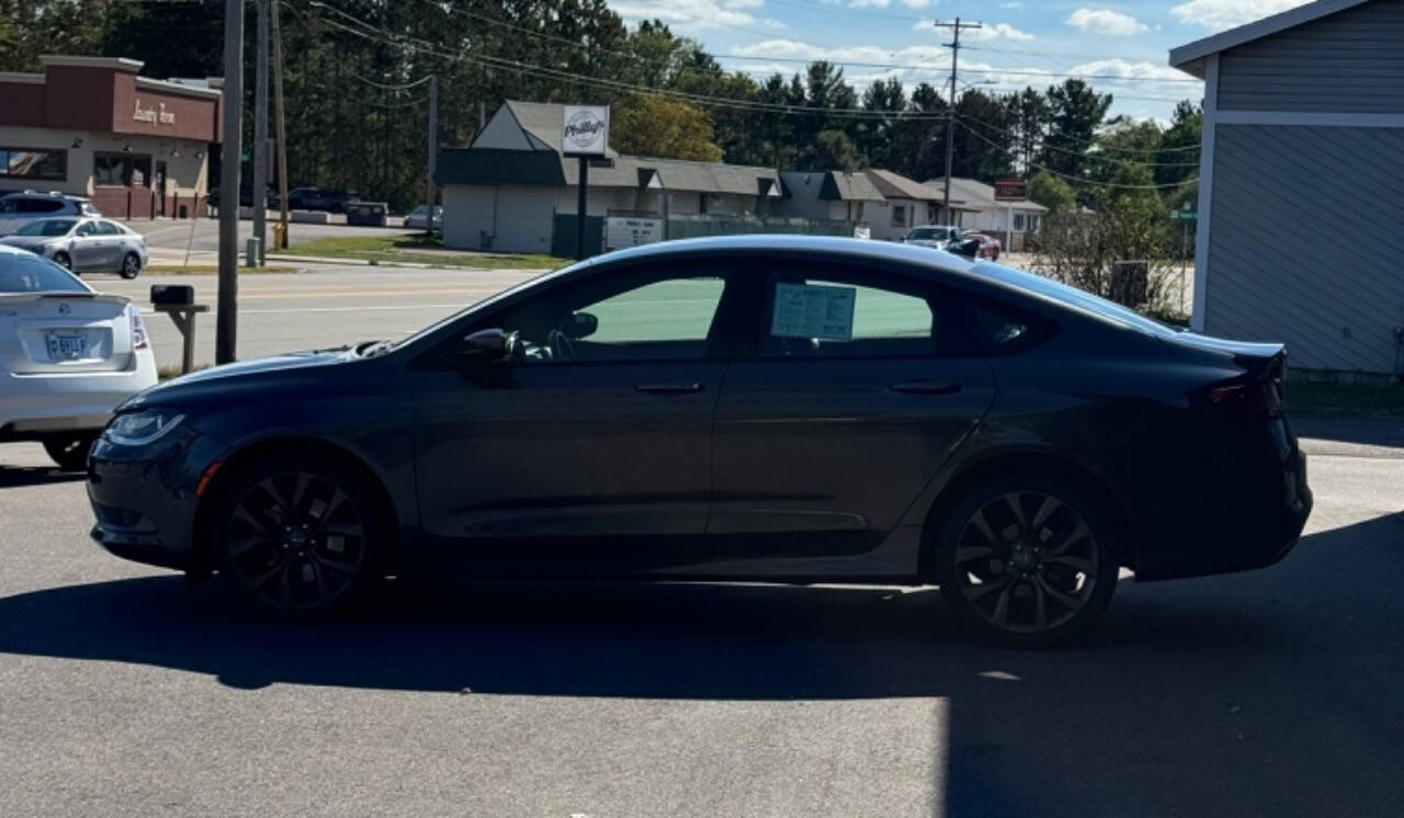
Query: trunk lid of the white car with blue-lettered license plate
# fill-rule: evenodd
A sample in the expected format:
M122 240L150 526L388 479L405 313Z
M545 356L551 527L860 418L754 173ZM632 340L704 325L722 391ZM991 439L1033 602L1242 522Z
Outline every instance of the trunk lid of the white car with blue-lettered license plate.
M129 369L128 303L83 292L0 293L0 366L21 376Z

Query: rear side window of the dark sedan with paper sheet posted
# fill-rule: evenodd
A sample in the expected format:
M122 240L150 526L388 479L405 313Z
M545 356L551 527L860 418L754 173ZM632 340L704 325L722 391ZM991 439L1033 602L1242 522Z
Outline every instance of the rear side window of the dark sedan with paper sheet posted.
M767 304L762 358L936 352L936 310L920 282L781 271Z

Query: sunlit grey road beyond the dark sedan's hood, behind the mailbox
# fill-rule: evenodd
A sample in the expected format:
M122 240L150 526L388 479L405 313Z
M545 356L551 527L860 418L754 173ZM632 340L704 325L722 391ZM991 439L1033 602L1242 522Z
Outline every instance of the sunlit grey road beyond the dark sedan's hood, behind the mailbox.
M246 274L239 278L237 352L240 359L278 352L403 338L536 272L310 265L299 274ZM84 276L101 292L129 296L152 334L156 361L178 366L181 335L168 316L150 306L153 283L188 283L197 302L211 306L195 326L195 363L215 362L215 275Z

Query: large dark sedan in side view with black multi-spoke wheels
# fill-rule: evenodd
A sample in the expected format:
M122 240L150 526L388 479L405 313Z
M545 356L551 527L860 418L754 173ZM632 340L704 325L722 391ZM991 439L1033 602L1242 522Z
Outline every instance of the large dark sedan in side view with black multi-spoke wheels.
M1311 492L1283 368L949 253L664 241L166 382L93 446L88 495L114 554L279 615L390 572L938 584L973 633L1046 647L1122 567L1286 556Z

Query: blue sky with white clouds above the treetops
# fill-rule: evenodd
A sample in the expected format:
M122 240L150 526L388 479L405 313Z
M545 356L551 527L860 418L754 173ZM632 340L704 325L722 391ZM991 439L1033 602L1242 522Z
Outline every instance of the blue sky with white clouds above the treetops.
M1112 114L1165 119L1177 100L1198 101L1203 86L1171 69L1167 52L1300 6L1303 0L611 0L630 24L658 18L701 41L729 69L790 74L812 59L848 63L863 86L899 77L908 87L949 79L949 31L934 20L979 21L962 35L959 86L991 91L1045 87L1068 74L1112 93ZM969 48L966 48L969 46ZM750 59L727 59L737 55ZM868 65L856 65L868 63Z

